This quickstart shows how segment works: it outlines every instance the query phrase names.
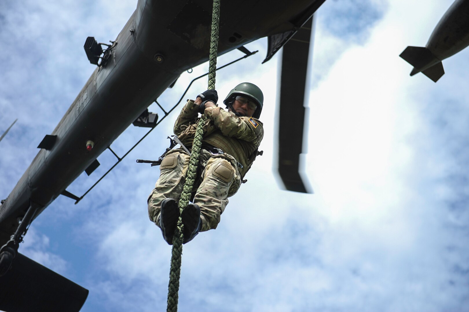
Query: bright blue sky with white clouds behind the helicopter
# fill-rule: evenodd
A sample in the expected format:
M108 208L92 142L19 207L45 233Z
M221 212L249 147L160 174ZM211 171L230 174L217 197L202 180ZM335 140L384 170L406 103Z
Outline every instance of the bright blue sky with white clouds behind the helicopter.
M424 46L452 0L327 0L310 64L304 175L315 194L287 192L276 173L279 55L217 73L265 94L264 156L230 199L217 230L184 245L180 311L469 311L469 51L433 83L399 58ZM136 1L0 2L0 197L6 198L95 66L87 36L114 40ZM223 9L223 8L222 8ZM279 53L280 54L280 53ZM242 56L233 51L219 64ZM172 107L204 64L158 101ZM206 89L202 79L189 96ZM151 111L159 112L156 105ZM178 110L178 109L176 109ZM83 312L164 311L171 247L146 199L176 112L77 205L59 197L31 225L20 252L90 290ZM292 121L295 122L295 121ZM123 155L146 131L124 132ZM113 165L104 152L81 196Z

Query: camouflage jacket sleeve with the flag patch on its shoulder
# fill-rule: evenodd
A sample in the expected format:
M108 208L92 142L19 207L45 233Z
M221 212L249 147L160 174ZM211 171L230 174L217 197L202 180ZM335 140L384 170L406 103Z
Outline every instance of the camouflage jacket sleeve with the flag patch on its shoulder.
M238 117L220 107L208 107L204 113L209 116L215 127L227 137L259 145L264 137L262 123L253 117Z

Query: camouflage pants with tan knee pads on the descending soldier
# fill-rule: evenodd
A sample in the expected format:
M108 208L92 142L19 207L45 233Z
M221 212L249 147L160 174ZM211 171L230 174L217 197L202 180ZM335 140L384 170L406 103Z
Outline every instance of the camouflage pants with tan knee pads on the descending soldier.
M148 197L148 215L159 226L161 202L165 198L179 201L186 180L190 156L182 149L166 154L160 165L160 176ZM236 160L226 153L212 155L202 149L194 189L194 203L200 207L202 230L215 229L225 210L228 197L233 196L241 184Z

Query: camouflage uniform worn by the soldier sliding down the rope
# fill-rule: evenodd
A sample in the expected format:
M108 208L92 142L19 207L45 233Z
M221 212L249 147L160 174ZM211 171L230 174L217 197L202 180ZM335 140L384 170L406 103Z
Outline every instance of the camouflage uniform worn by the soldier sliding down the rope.
M189 150L197 129L198 109L199 106L189 100L174 123L174 134ZM198 179L193 189L197 190L194 203L200 207L201 231L217 227L228 197L238 191L242 177L251 166L249 157L264 137L262 123L256 118L238 117L219 107L208 107L204 113L209 118L204 124ZM205 146L214 146L224 153L213 155ZM158 226L161 202L165 198L179 201L189 158L183 149L175 149L161 162L159 179L148 197L149 217Z

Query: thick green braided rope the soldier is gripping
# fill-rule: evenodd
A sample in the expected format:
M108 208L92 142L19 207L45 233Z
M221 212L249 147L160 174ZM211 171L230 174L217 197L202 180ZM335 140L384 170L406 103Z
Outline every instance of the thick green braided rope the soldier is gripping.
M220 19L220 0L213 1L212 12L212 33L210 36L210 56L209 56L209 75L208 89L215 89L215 71L217 69L217 50L218 50L218 27ZM182 210L189 204L190 195L194 182L196 181L197 165L200 156L200 148L202 146L202 138L204 137L204 123L207 120L206 115L202 115L197 124L196 135L192 145L192 152L189 160L189 168L186 174L186 181L182 188L181 198L179 199L179 218L173 237L173 249L171 254L171 268L169 271L168 299L166 312L177 312L179 278L181 276L181 257L182 257Z

